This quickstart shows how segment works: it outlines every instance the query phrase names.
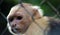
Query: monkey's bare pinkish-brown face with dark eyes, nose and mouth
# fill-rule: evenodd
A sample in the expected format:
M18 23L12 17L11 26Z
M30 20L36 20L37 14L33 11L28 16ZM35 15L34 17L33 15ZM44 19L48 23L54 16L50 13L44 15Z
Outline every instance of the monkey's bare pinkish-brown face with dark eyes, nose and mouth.
M31 16L23 8L11 12L7 18L9 30L16 34L26 32L32 21Z

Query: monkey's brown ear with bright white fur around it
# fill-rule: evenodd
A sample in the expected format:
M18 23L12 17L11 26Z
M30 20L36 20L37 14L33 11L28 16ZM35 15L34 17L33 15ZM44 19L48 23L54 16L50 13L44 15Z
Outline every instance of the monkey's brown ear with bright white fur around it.
M39 19L43 16L43 11L38 6L33 6L33 16L35 19Z

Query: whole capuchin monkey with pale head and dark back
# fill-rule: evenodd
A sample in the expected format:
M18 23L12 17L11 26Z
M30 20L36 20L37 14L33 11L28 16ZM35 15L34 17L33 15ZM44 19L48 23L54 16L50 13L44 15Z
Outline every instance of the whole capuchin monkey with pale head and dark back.
M13 35L59 35L60 20L43 15L39 6L22 3L11 8L7 27Z

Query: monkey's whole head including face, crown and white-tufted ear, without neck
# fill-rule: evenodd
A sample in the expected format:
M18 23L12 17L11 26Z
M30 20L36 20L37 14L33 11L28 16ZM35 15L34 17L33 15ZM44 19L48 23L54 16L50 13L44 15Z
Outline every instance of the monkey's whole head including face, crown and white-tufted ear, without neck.
M34 16L35 20L43 16L42 9L40 9L39 6L33 6L27 3L23 3L23 6L27 11L21 4L18 4L11 8L7 16L7 27L12 34L25 33L32 23L31 15Z

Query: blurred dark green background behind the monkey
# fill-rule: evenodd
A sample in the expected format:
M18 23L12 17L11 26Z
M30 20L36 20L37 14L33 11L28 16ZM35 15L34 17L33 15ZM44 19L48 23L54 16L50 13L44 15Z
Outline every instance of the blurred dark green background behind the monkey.
M60 0L22 0L22 2L40 6L46 16L60 18ZM11 7L19 3L20 0L0 0L0 35L11 35L8 29L4 32L7 25L6 16Z

